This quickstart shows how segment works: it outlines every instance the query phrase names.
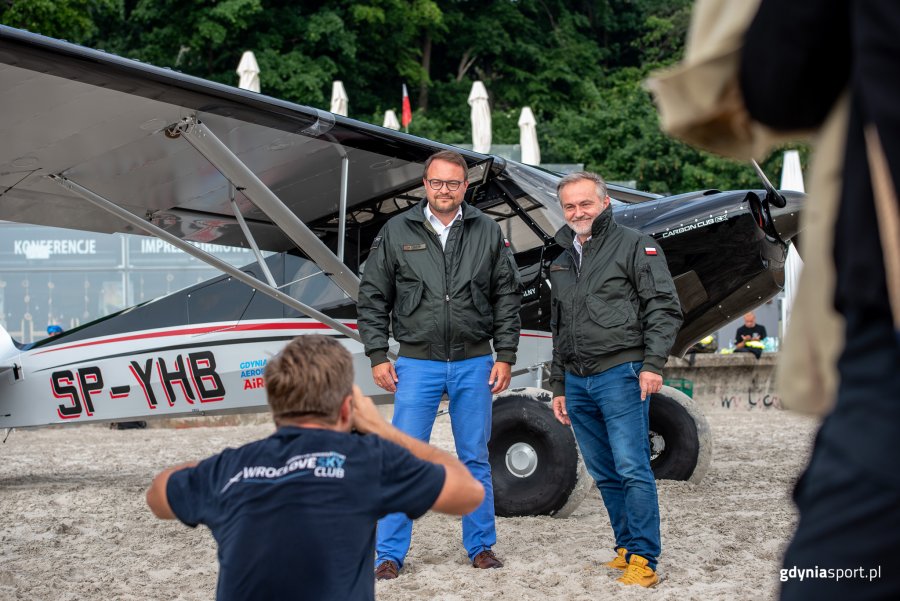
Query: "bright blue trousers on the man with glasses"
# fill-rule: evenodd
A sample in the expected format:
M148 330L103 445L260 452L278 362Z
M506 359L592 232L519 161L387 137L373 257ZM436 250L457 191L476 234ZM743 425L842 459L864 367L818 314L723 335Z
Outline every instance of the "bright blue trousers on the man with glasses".
M441 397L450 397L450 425L456 455L484 486L484 501L463 516L463 546L469 560L497 542L494 528L494 487L487 443L491 438L491 387L488 379L491 355L463 361L429 361L400 357L397 392L394 395L394 426L414 438L428 442ZM412 520L392 513L378 521L375 550L377 563L385 560L403 566L412 536Z

